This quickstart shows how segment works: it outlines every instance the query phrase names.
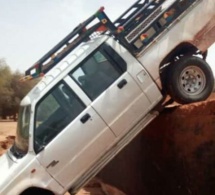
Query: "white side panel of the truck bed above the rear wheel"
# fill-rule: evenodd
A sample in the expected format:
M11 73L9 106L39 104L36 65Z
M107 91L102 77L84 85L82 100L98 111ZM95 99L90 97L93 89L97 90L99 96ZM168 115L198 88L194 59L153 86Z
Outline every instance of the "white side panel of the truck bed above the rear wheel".
M214 43L214 9L214 0L198 1L138 54L139 61L150 72L160 89L163 89L163 82L166 80L164 70L160 71L161 67L181 54L195 54L197 51L205 54Z

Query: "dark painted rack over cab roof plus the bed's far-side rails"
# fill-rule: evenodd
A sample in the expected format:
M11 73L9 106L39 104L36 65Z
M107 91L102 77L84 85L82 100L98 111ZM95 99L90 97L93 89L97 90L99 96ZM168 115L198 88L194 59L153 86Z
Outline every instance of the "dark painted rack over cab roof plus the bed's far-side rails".
M150 17L152 13L165 0L138 0L130 6L115 22L111 22L104 7L78 25L63 40L40 58L33 66L26 70L25 75L36 78L47 73L66 55L73 51L78 45L92 38L93 33L108 34L118 40L131 53L134 53L133 44L130 44L126 36L134 30L141 22ZM98 23L92 24L95 19ZM87 29L87 26L90 26Z

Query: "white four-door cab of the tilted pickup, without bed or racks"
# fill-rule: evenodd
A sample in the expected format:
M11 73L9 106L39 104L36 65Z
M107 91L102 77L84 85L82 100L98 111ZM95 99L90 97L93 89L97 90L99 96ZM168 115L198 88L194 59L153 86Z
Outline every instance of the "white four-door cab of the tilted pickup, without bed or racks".
M147 124L157 116L151 110L161 99L147 71L113 38L83 44L23 99L16 141L5 154L19 166L12 179L7 174L13 187L1 190L21 193L27 180L56 194L55 187L61 193L77 188L137 134L139 121ZM20 183L26 166L30 170ZM38 183L41 171L46 180ZM50 186L53 182L58 185Z

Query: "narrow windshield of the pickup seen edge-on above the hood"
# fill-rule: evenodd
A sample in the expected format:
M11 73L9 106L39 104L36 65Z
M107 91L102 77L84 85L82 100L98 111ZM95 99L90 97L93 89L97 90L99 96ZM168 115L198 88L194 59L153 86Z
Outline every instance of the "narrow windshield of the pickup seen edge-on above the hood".
M24 156L28 151L30 106L21 106L18 115L15 144L11 152L16 157Z

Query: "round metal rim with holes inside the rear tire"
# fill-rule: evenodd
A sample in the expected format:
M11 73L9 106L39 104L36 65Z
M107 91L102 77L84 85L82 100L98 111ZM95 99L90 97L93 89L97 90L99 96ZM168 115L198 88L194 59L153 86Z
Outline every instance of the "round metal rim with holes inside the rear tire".
M200 94L206 86L204 72L197 66L185 68L180 75L180 87L187 95Z

